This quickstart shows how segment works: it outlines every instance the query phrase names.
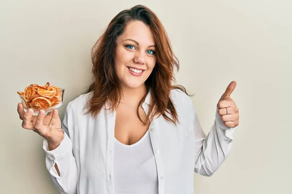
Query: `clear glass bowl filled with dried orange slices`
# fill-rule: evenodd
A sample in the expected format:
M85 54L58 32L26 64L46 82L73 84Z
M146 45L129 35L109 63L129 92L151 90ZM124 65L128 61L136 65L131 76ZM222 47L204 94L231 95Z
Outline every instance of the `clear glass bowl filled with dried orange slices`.
M47 92L42 95L24 96L23 93L18 92L18 96L24 107L24 110L34 110L34 115L37 115L40 110L44 110L45 113L53 112L63 104L64 89L58 88L59 91Z

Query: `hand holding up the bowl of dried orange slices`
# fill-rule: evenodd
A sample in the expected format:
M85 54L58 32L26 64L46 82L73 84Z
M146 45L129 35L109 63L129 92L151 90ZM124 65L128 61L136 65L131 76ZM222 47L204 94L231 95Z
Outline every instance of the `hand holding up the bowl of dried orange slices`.
M64 139L64 131L61 129L61 120L57 109L46 115L43 110L40 110L35 116L32 109L28 109L25 113L22 103L18 103L17 111L22 120L22 128L33 130L45 138L48 141L49 150L60 145Z

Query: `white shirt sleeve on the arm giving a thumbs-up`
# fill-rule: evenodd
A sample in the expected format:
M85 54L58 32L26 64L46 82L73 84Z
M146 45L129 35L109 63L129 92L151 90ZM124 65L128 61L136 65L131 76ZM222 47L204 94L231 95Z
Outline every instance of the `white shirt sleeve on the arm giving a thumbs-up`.
M193 116L196 152L194 170L200 175L210 177L228 157L235 129L224 126L216 109L214 124L206 135L194 107Z

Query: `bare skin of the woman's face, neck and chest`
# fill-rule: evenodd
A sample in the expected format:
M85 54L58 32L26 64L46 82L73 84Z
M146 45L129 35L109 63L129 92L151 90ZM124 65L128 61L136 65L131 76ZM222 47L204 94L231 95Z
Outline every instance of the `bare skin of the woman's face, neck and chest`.
M130 39L130 40L129 40ZM151 29L141 21L129 22L125 32L117 38L115 73L123 90L122 103L116 109L115 138L132 145L146 133L149 123L143 125L137 115L139 101L146 94L145 81L155 64L155 41ZM133 76L128 67L143 69L142 76ZM146 118L139 107L142 120Z

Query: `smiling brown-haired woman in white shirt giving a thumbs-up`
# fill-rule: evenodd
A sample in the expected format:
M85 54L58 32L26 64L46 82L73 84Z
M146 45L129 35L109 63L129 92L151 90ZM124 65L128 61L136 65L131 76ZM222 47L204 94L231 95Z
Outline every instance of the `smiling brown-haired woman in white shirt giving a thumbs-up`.
M231 82L209 134L191 98L172 85L179 67L163 25L145 6L115 16L92 49L94 81L57 110L23 111L44 137L46 166L62 194L193 194L193 171L211 176L229 155L238 109ZM64 132L65 131L65 132Z

